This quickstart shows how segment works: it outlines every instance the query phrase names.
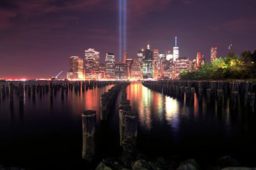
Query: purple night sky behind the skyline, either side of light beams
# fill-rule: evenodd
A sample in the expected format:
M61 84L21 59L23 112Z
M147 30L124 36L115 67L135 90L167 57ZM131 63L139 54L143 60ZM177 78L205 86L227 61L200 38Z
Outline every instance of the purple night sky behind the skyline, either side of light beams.
M256 50L255 0L127 0L127 53L149 41L165 53L178 36L180 57L210 60ZM1 0L0 78L66 77L68 57L95 48L118 61L118 0Z

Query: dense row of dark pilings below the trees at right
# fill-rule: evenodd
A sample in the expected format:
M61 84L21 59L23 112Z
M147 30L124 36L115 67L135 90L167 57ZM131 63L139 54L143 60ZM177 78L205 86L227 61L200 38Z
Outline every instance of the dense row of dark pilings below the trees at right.
M176 97L177 99L195 100L202 102L206 96L207 103L229 100L230 109L236 110L239 103L248 106L254 112L256 85L252 81L144 81L143 85L149 89ZM184 98L185 97L185 98Z

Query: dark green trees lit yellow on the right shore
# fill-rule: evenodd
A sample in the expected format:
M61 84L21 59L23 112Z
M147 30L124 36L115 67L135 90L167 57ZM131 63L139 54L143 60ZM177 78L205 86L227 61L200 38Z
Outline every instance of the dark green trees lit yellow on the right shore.
M225 80L256 78L256 50L254 53L244 51L239 57L229 52L227 57L220 57L212 62L205 62L198 69L181 71L182 80Z

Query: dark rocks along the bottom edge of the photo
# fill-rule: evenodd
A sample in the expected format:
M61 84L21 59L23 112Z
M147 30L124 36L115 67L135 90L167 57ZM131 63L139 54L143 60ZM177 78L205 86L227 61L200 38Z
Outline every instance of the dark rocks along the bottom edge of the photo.
M136 157L124 157L103 159L95 170L256 170L256 167L243 167L243 165L230 156L220 157L211 164L200 166L195 159L180 160L179 157L148 158L143 153Z

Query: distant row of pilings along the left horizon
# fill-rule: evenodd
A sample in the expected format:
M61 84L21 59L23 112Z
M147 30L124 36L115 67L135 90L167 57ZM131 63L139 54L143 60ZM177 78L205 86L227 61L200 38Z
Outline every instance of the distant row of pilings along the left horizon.
M4 84L0 87L0 101L1 99L5 99L5 97L9 97L10 101L13 101L13 96L16 95L20 97L20 101L22 102L24 95L28 97L32 96L33 101L36 99L36 95L40 98L45 94L50 93L56 96L58 92L61 92L61 99L64 98L65 94L68 94L68 90L70 92L74 91L76 94L85 92L88 89L95 89L96 87L104 87L108 85L114 85L119 83L119 81L49 81L47 83L42 83L40 81L36 81L37 85L33 85L35 81L29 82L12 82L9 81L8 84Z

